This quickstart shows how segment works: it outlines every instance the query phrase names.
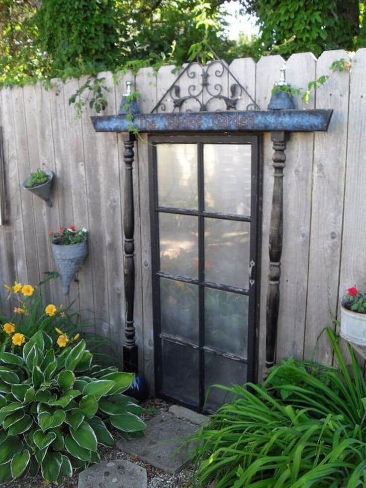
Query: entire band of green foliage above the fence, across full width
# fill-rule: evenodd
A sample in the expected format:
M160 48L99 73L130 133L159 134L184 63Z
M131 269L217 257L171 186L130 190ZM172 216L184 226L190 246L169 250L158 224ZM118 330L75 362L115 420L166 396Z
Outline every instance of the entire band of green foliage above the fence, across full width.
M181 65L208 45L228 62L366 45L366 2L240 0L259 34L234 42L225 33L230 1L1 0L0 86Z

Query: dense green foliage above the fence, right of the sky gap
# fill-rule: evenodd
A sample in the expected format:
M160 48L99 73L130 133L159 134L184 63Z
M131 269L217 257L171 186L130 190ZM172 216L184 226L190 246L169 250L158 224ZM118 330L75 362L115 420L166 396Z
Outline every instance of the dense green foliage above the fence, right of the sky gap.
M242 0L242 4L247 13L258 18L260 35L251 46L256 58L307 51L319 56L329 49L353 51L365 46L365 2Z

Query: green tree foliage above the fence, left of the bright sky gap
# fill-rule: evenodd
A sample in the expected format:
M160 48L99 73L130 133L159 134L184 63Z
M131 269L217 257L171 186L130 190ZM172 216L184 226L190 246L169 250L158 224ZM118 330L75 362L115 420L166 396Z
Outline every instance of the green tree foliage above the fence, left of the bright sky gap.
M203 37L219 54L224 0L4 0L0 83L80 76L123 66L177 64ZM200 8L200 11L197 11ZM198 25L204 11L210 29Z

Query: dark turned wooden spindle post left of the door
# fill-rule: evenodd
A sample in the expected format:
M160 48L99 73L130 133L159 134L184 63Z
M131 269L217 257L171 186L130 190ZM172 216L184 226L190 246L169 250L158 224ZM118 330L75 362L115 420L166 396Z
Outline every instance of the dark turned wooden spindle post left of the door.
M133 318L135 299L135 242L134 242L134 203L133 203L133 160L135 137L123 141L124 151L124 200L123 200L123 254L124 254L124 293L125 293L125 343L123 346L123 369L138 373L138 355Z

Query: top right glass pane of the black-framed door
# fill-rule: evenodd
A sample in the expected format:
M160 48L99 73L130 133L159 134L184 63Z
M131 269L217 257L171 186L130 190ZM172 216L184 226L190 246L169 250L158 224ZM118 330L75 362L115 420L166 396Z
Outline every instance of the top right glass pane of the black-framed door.
M250 215L250 144L204 144L204 209Z

